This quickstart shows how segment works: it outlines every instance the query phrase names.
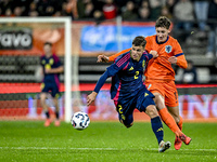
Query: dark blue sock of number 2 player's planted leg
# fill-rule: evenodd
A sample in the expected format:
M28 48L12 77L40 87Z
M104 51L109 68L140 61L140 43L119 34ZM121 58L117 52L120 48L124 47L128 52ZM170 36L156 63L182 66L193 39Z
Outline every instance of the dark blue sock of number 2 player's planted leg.
M161 118L157 116L151 119L152 131L154 132L158 144L164 139L164 130Z

